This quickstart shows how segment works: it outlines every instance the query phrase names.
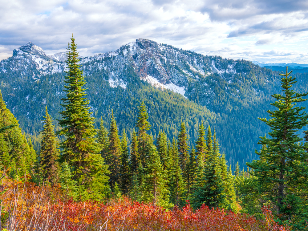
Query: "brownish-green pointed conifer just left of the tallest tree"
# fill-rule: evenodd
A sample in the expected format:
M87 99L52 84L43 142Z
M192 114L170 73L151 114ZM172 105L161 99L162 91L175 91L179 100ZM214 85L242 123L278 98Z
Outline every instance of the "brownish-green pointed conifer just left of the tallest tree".
M55 178L59 172L58 163L58 142L55 139L55 126L52 124L52 119L48 114L47 106L45 111L45 120L43 121L41 149L40 149L40 166L42 168L43 177L46 179L51 176L51 179Z

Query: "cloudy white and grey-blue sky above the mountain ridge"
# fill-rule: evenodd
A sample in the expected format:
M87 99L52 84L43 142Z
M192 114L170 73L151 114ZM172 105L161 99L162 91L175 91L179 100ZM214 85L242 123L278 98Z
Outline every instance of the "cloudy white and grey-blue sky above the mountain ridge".
M31 41L52 55L71 34L81 56L137 38L203 55L308 63L307 0L0 0L0 59Z

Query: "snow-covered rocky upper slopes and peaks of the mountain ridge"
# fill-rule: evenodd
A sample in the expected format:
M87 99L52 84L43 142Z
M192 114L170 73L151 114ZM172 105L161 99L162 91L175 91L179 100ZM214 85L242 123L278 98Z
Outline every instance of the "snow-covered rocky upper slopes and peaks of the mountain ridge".
M65 52L46 55L41 47L29 42L15 49L11 58L1 61L0 72L20 71L21 75L31 75L36 81L42 75L66 70L65 60ZM213 73L230 81L229 74L247 72L238 67L237 61L183 51L148 39L136 39L116 51L80 57L80 64L84 75L101 75L111 87L126 88L136 75L153 87L170 89L183 96L187 96L189 84L202 83L202 79ZM209 95L211 88L207 83L202 84Z

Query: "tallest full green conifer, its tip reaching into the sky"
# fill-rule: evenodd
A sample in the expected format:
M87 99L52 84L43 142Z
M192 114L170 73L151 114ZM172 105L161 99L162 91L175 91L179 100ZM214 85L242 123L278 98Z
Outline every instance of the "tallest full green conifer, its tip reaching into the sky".
M91 169L101 162L99 145L95 142L96 130L94 128L94 118L91 117L88 107L89 100L84 98L86 84L83 71L78 64L78 52L75 39L72 35L71 43L67 48L67 68L63 91L66 98L62 98L64 111L59 112L62 120L58 124L62 127L56 132L57 135L66 136L66 140L60 144L63 149L59 160L61 163L68 161L73 167L73 178L79 184L90 184L93 181Z

